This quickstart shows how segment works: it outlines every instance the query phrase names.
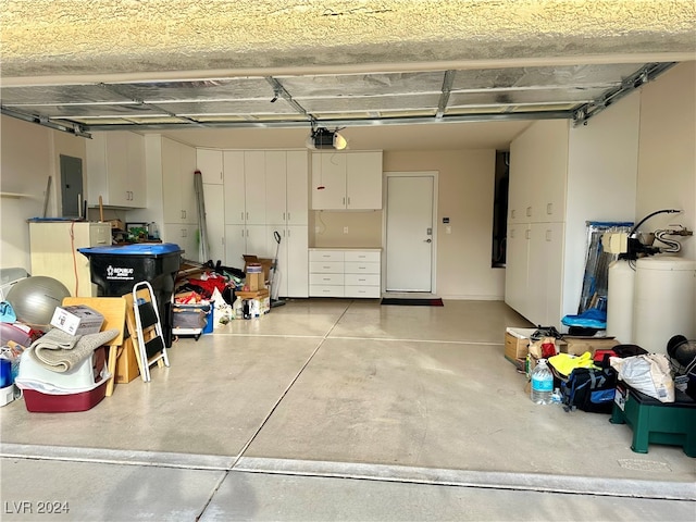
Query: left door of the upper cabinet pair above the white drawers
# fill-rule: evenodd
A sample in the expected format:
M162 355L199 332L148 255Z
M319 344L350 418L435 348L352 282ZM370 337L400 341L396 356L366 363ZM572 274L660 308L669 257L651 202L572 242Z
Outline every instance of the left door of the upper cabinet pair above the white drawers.
M312 154L312 209L346 208L346 154L320 152Z

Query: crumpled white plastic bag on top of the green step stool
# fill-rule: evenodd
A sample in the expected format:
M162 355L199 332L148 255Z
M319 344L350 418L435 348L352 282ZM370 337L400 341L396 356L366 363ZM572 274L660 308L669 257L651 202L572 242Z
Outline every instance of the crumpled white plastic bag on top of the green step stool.
M648 353L621 359L610 357L609 364L619 378L634 389L659 400L674 402L674 380L664 353Z

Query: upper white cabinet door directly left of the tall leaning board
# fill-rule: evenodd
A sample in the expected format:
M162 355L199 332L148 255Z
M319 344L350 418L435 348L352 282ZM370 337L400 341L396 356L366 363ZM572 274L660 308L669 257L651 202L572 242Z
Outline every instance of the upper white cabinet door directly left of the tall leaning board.
M165 224L198 224L194 172L196 149L163 137L162 198Z

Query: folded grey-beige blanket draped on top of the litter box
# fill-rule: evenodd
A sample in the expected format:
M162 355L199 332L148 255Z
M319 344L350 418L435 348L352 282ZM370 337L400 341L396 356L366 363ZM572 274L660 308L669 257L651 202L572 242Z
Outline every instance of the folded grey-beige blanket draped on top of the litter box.
M60 332L60 334L53 334L53 332L57 331ZM50 337L47 340L44 340L49 335ZM34 349L29 351L29 356L48 370L63 373L71 370L76 364L79 364L85 359L91 357L97 348L109 343L117 335L117 330L105 330L97 334L73 336L65 334L58 328L53 328L44 335L44 337L32 344L32 348ZM61 348L58 346L60 341L57 339L63 339L64 344L70 344L64 336L73 338L77 337L77 340L71 348ZM44 343L41 343L41 340L44 340Z

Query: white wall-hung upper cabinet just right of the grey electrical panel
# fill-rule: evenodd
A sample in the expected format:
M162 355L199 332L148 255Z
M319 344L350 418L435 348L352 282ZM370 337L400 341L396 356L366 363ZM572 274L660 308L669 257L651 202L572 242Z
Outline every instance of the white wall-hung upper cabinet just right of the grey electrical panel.
M101 196L109 207L147 206L145 138L116 130L94 133L87 140L87 202L95 206Z

